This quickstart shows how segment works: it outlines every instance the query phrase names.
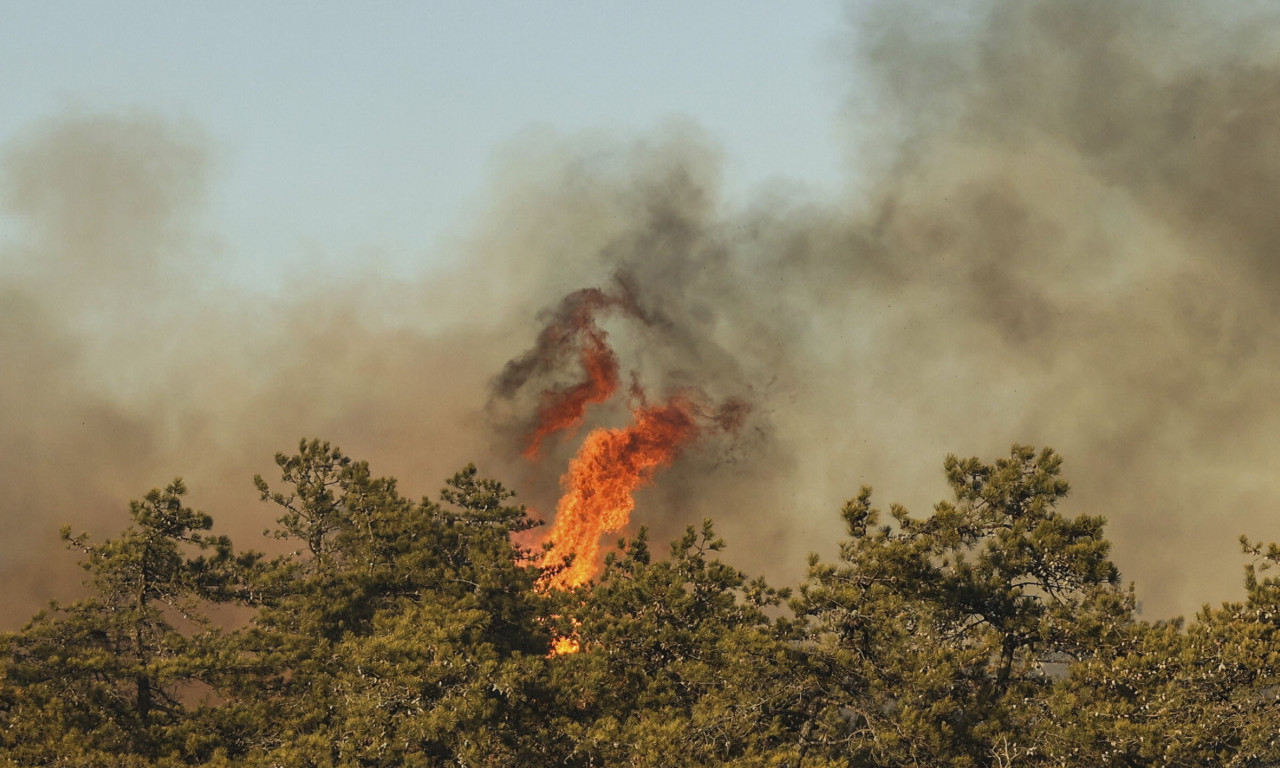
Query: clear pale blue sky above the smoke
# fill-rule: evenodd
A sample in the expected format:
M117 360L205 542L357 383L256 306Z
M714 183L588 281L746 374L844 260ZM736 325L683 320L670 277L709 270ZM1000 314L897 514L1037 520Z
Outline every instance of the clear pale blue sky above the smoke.
M692 120L726 192L842 174L838 3L0 3L0 146L142 110L214 159L230 271L447 262L494 156L530 131Z

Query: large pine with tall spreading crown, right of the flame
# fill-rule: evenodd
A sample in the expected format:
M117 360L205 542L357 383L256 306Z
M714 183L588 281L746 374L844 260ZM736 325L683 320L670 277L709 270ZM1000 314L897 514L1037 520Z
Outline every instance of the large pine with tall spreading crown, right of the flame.
M1066 517L1061 458L1015 445L947 457L954 500L881 524L870 489L845 506L841 563L813 559L794 602L828 681L820 749L869 764L1025 760L1052 664L1115 641L1117 588L1100 517Z

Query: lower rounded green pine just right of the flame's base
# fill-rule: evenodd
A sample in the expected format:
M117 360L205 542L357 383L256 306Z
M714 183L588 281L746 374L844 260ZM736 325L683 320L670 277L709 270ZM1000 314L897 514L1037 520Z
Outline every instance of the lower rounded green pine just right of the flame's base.
M653 562L641 530L570 602L581 650L557 666L572 764L765 765L795 750L809 680L765 609L785 593L714 558L710 521Z

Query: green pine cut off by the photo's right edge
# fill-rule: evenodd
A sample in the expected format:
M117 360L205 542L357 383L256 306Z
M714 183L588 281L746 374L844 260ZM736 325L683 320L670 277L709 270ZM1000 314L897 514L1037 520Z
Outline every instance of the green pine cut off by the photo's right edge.
M1280 548L1242 539L1245 599L1134 623L1052 700L1044 751L1068 765L1280 764Z

